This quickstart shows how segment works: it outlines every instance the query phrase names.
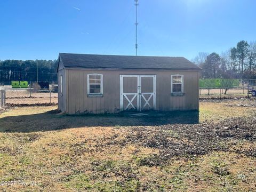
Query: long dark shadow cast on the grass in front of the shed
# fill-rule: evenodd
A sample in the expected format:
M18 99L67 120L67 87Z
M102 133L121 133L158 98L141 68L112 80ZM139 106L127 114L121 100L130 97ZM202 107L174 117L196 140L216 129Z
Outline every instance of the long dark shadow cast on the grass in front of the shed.
M120 113L114 115L60 115L48 111L0 119L0 132L35 132L76 127L157 126L166 124L197 124L199 111Z

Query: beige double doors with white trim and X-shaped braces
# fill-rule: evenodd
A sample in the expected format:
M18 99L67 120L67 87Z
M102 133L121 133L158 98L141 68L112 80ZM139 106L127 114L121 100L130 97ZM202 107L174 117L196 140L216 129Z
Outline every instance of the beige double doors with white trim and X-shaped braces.
M156 108L155 75L120 75L121 111L141 111Z

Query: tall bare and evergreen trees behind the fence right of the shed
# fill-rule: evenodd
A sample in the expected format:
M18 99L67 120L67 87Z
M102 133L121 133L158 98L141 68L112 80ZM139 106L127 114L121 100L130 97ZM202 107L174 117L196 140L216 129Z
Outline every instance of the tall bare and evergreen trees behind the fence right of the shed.
M256 78L256 42L239 41L220 54L199 52L192 61L203 69L202 78Z

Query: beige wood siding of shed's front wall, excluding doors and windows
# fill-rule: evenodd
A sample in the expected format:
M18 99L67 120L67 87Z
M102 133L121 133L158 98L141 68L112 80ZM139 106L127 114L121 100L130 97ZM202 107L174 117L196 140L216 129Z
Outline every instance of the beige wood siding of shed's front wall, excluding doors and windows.
M103 75L103 97L87 96L87 74L94 73ZM171 95L171 75L175 74L183 75L183 92L185 93L183 96ZM66 69L67 113L118 113L120 109L120 75L156 75L157 110L199 109L198 71ZM150 90L151 87L145 89Z

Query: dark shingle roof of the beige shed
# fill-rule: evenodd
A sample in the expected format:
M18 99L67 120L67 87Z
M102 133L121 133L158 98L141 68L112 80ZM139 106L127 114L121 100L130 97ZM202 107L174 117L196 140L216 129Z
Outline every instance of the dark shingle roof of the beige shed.
M117 68L117 69L197 69L183 57L153 57L60 53L66 68Z

